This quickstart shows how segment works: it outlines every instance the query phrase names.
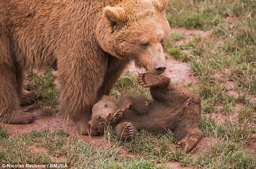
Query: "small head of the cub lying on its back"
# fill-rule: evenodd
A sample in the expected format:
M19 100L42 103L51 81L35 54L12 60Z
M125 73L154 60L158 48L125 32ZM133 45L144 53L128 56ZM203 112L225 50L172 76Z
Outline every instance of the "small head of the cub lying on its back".
M92 108L92 119L88 122L92 128L98 128L104 131L106 125L112 126L116 122L113 117L118 110L118 102L111 96L102 96L101 100Z

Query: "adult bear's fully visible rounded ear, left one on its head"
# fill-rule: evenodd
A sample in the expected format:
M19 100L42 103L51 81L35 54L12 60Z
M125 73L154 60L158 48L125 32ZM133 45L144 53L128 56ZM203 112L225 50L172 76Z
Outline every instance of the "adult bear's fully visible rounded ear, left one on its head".
M127 22L127 16L122 7L106 6L103 10L105 18L114 26L117 22Z

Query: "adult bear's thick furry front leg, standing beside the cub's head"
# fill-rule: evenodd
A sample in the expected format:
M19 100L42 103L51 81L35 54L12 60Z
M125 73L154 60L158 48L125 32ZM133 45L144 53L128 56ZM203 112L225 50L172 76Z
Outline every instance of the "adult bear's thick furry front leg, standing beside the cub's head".
M92 107L98 100L107 62L104 55L97 53L99 49L82 45L82 51L65 50L58 57L61 108L78 125L79 134L98 135L99 132L91 128L88 121L92 116Z

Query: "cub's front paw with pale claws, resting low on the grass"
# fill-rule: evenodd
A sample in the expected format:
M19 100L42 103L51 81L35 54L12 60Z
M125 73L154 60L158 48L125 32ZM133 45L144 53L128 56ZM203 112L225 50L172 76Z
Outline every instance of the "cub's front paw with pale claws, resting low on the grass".
M115 126L115 132L120 140L131 140L137 129L130 122L121 122Z

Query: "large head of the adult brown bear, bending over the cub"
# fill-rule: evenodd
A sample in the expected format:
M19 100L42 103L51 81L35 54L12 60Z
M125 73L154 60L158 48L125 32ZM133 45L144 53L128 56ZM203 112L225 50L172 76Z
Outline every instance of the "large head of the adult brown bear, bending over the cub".
M114 57L133 60L153 74L166 69L163 51L170 26L164 16L168 0L120 0L103 8L96 36Z

